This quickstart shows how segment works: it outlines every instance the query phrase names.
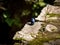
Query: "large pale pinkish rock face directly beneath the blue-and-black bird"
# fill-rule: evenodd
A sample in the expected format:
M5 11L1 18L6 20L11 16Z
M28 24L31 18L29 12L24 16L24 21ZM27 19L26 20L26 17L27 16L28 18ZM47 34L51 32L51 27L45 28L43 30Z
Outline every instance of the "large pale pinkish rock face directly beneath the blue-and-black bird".
M35 22L34 25L25 24L21 31L16 32L13 39L15 40L16 38L23 38L26 41L33 40L34 38L36 38L36 35L38 35L39 29L41 28L41 24L43 23Z

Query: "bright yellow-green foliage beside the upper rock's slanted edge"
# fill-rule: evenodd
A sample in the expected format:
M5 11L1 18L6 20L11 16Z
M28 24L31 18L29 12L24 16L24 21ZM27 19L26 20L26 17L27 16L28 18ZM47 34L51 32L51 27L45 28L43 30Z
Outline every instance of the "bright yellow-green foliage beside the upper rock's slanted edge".
M38 16L40 14L41 9L46 5L44 0L38 0L32 6L33 15Z

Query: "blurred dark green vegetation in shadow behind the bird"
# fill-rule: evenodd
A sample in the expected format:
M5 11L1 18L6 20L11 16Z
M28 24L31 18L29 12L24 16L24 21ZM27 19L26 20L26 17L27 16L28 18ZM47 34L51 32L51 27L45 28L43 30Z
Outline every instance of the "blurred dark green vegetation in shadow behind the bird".
M18 4L19 3L19 4ZM9 26L16 25L20 28L20 25L25 24L32 17L37 17L40 14L41 9L46 5L43 0L38 1L25 1L22 0L21 3L19 1L9 2L10 5L5 14L3 14L4 18L6 18L6 22ZM9 12L9 14L8 14Z

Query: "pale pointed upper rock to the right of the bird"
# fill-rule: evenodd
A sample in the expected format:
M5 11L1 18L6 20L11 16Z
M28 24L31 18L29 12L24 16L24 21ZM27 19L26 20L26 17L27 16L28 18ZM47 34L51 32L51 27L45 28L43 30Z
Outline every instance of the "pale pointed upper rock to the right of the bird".
M49 19L57 19L57 17L54 17L54 16L51 17L51 18L46 17L47 15L50 15L50 14L60 14L60 6L53 6L53 5L48 4L46 7L44 7L41 10L41 13L35 19L39 20L39 21L46 21L46 20L49 20Z

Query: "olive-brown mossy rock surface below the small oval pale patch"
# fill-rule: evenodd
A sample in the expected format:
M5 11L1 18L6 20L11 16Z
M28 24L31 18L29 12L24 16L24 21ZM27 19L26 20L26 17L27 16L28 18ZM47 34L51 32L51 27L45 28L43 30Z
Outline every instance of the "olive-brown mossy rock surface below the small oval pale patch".
M49 42L51 40L60 39L60 34L58 32L49 33L49 32L39 32L39 35L36 39L29 42L29 45L43 45L45 42Z

